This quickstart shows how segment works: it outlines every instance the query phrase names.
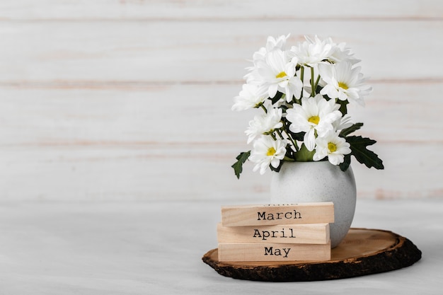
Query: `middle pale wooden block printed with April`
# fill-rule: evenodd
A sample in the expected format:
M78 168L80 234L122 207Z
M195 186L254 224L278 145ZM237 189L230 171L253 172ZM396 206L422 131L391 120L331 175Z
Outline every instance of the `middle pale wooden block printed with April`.
M329 224L289 224L275 226L222 226L217 224L219 243L326 244Z

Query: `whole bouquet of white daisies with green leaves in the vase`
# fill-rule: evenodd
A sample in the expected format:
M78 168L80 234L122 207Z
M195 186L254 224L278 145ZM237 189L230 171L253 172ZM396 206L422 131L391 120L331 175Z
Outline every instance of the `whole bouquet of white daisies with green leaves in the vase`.
M350 135L363 126L352 124L347 104L364 105L372 91L364 84L359 62L344 43L317 36L287 49L287 36L268 37L253 54L233 110L263 110L246 130L251 151L242 152L232 168L237 178L246 160L260 174L279 171L283 161L329 161L345 171L351 155L368 168L383 162L367 146L376 141Z

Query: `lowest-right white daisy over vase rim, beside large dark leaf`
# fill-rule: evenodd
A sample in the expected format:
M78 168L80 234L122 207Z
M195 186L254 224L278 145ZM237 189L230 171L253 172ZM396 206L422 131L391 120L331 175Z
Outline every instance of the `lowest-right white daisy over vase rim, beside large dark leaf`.
M343 163L345 155L350 154L350 144L343 137L338 136L339 132L329 131L324 137L316 139L316 153L313 154L313 161L320 161L328 156L328 161L333 165Z

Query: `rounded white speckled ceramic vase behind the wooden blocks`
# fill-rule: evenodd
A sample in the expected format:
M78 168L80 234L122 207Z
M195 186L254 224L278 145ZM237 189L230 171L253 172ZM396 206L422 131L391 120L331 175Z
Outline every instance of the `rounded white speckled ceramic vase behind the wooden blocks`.
M351 167L343 172L329 161L285 161L279 173L272 173L270 192L272 204L333 202L331 248L345 238L354 219L357 192Z

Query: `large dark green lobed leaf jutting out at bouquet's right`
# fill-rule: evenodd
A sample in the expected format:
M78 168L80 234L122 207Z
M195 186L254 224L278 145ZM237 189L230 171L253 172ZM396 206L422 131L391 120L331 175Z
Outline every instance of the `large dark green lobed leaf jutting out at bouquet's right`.
M376 169L384 169L383 161L373 151L369 151L367 146L375 144L376 141L367 137L347 137L346 141L350 144L351 154L355 156L357 161L367 166L367 168L374 167ZM341 168L341 166L340 166Z

